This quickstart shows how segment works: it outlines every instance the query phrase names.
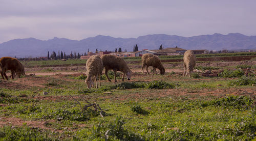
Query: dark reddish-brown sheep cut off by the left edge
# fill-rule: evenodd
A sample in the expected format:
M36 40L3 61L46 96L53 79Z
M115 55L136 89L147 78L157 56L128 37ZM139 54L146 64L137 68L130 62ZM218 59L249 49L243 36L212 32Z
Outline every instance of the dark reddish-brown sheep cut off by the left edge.
M6 75L7 70L11 70L12 79L14 79L15 73L18 75L18 78L20 78L20 75L25 74L24 66L16 58L2 57L0 59L0 63L0 67L2 69L1 75L3 79L6 78L8 80L8 77Z

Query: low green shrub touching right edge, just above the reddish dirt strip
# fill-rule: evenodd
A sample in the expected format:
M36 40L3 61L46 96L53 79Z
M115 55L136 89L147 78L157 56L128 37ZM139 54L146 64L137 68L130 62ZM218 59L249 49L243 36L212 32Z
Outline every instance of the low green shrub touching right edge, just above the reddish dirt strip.
M238 80L232 80L229 82L229 86L243 86L256 84L256 79L254 77L242 76Z

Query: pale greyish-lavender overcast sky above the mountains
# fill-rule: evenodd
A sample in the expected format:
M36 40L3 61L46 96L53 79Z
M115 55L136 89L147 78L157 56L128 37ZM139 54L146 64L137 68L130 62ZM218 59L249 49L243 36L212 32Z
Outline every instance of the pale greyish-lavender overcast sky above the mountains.
M256 1L0 0L0 43L17 38L81 40L97 35L137 38L256 35Z

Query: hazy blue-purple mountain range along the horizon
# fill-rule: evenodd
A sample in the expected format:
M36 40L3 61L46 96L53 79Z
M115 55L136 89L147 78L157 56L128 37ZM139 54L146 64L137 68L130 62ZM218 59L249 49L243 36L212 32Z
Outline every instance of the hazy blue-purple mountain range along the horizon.
M114 51L121 47L124 51L133 51L133 46L137 44L139 50L158 49L162 44L166 47L181 47L184 49L255 49L256 36L245 36L239 33L230 33L228 35L213 34L200 35L193 37L181 37L176 35L146 35L138 38L113 38L110 36L98 35L96 37L86 38L80 41L65 38L53 38L42 41L35 38L14 39L0 44L0 57L46 57L47 52L58 50L65 51L66 54L98 50Z

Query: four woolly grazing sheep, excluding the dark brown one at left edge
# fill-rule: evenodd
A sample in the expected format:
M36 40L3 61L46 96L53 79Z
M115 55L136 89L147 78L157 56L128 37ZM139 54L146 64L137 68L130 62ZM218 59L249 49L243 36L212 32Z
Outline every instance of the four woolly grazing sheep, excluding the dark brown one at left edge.
M146 67L146 71L148 74L148 67L153 67L153 75L154 73L157 74L156 69L159 69L160 74L165 73L165 69L158 58L157 55L153 55L150 53L146 53L142 55L142 72L144 73L144 68ZM187 50L184 53L184 73L183 76L188 75L190 77L190 73L193 71L194 67L196 66L196 56L192 50ZM105 54L101 57L97 55L93 55L90 57L86 63L87 68L87 79L86 84L88 88L91 88L94 86L94 81L96 80L96 88L98 88L98 77L99 77L99 85L100 85L100 76L102 75L102 70L105 68L105 75L108 78L109 81L110 78L108 76L108 71L113 70L115 74L115 81L116 81L116 72L121 71L123 73L122 81L124 80L124 75L126 75L127 79L131 79L132 71L127 66L126 62L120 58L116 57L114 55Z

